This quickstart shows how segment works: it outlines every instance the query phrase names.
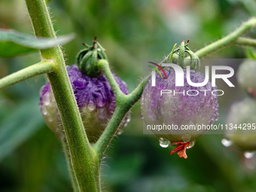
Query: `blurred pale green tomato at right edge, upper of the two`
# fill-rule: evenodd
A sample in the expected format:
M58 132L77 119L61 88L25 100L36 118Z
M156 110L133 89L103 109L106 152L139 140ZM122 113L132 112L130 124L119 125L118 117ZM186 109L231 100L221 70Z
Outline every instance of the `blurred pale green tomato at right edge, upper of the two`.
M236 74L239 86L256 96L256 59L246 59Z

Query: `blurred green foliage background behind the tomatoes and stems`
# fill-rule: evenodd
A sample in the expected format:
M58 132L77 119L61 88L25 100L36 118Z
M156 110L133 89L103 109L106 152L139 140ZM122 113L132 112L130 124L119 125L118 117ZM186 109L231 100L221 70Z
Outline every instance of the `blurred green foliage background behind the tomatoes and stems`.
M133 90L144 59L160 59L173 44L190 38L198 50L256 14L254 0L52 0L57 35L75 32L62 46L67 65L94 36L107 50L111 69ZM25 1L0 2L0 27L32 34ZM255 30L250 32L256 37ZM228 47L207 58L244 58L242 47ZM0 59L0 78L40 61L39 53ZM44 76L0 91L0 191L72 191L61 143L48 130L38 106ZM241 97L241 96L240 96ZM239 96L237 96L239 98ZM225 114L233 100L221 105ZM224 148L222 135L206 135L187 150L187 160L157 137L142 133L139 102L123 134L114 139L102 163L102 190L109 192L256 191L255 169L242 152Z

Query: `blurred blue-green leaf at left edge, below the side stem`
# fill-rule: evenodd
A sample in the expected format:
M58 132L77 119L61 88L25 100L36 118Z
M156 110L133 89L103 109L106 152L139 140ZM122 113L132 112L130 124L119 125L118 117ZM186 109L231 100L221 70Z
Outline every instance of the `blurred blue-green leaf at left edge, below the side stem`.
M29 99L18 105L0 127L0 161L11 154L44 124L38 99Z

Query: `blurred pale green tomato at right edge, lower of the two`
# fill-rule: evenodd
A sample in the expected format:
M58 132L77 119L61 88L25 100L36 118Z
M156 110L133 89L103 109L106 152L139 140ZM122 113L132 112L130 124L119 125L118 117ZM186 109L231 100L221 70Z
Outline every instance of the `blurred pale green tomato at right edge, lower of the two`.
M234 145L244 151L256 150L255 124L256 101L251 98L245 98L240 102L234 103L227 117L227 139L230 139ZM231 129L231 126L233 129Z

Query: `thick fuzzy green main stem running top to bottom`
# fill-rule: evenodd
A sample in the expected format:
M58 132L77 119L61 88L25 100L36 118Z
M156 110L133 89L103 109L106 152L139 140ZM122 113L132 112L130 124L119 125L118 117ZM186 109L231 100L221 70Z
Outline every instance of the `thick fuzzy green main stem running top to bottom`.
M26 0L26 5L35 35L56 38L45 2ZM53 72L47 74L47 77L62 119L79 188L82 192L99 192L99 160L84 131L62 51L59 46L41 50L41 57L53 60Z

